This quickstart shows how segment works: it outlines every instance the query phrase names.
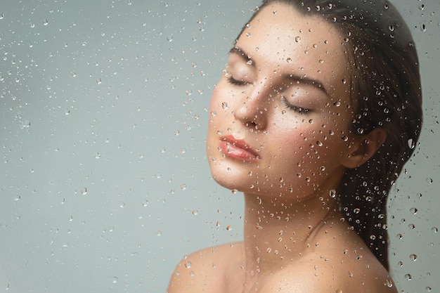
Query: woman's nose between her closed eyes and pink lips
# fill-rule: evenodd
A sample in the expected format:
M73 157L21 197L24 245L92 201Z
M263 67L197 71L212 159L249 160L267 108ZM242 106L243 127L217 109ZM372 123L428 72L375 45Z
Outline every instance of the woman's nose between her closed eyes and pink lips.
M270 112L268 104L272 95L270 87L266 89L264 86L255 86L250 95L244 95L236 104L235 119L253 129L266 129Z

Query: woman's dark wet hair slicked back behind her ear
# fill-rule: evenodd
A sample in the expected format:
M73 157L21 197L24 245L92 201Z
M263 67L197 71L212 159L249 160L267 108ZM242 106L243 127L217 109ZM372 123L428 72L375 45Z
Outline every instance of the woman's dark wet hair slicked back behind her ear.
M368 162L347 169L337 198L344 219L389 269L387 197L422 126L418 56L410 30L384 0L264 0L259 10L273 3L321 17L341 32L351 66L352 132L364 135L381 127L387 134Z

